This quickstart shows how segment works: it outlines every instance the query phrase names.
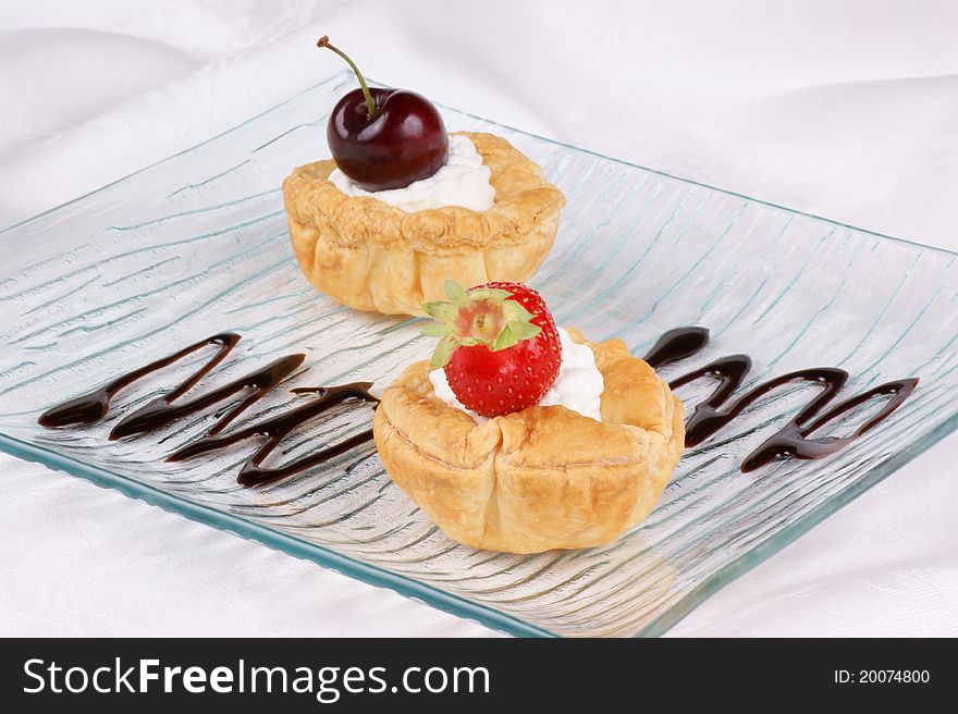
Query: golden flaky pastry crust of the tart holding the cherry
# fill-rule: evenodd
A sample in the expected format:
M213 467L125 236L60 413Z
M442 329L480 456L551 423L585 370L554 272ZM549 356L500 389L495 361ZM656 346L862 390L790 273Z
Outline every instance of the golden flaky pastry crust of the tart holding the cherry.
M323 293L360 310L422 315L443 283L528 280L552 247L565 197L542 169L492 134L468 136L489 167L493 206L407 213L328 181L332 159L298 167L283 182L299 267Z

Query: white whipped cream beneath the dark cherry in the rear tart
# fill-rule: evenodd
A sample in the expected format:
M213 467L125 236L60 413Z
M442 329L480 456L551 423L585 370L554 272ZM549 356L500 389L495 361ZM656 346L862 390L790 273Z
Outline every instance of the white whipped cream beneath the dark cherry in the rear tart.
M449 160L429 178L414 181L405 188L369 192L359 188L339 169L329 180L347 196L372 196L409 213L442 206L462 206L484 211L495 200L495 189L489 183L489 168L468 136L450 135Z

